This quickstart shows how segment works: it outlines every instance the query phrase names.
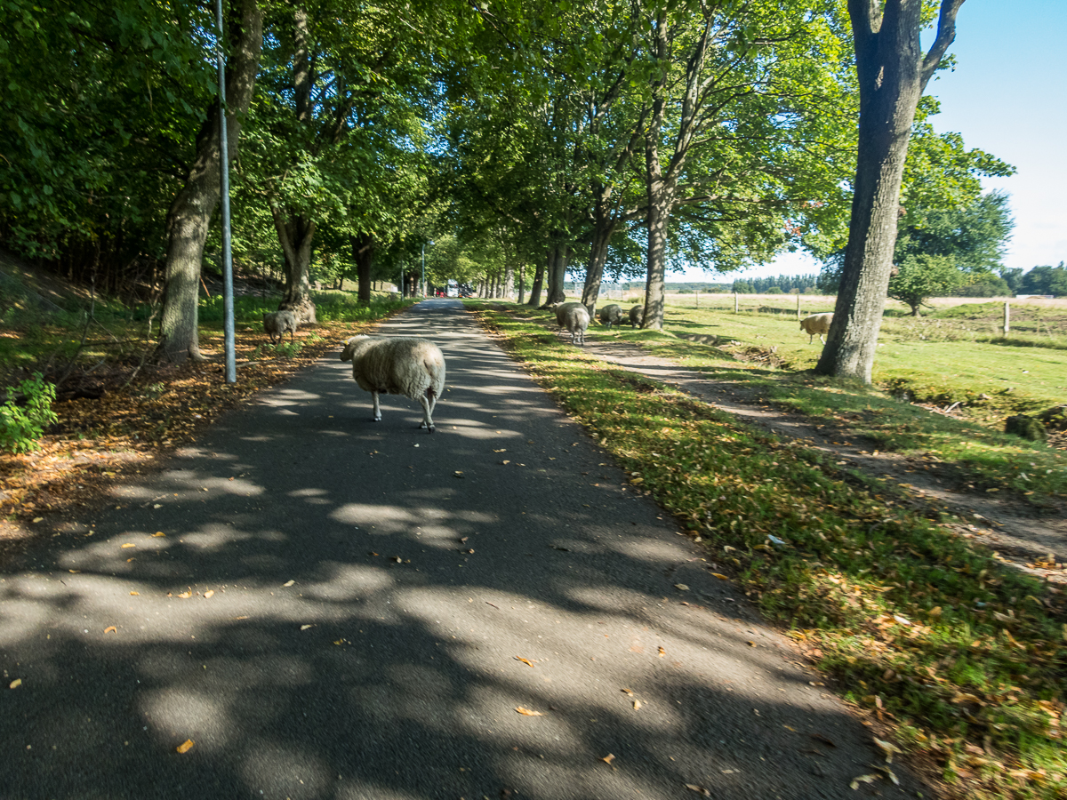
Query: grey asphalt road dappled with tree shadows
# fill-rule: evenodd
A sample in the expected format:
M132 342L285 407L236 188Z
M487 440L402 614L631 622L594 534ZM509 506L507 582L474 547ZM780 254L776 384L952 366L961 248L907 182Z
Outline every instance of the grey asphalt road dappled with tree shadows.
M930 796L458 301L381 331L436 433L333 356L0 574L0 797Z

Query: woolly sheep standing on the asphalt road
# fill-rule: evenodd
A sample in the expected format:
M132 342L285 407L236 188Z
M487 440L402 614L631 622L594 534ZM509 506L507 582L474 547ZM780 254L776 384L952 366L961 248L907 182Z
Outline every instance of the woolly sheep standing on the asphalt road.
M423 405L423 423L433 433L433 406L445 388L445 356L428 339L353 336L345 342L343 362L352 362L352 378L375 402L375 421L382 419L379 394L403 395Z

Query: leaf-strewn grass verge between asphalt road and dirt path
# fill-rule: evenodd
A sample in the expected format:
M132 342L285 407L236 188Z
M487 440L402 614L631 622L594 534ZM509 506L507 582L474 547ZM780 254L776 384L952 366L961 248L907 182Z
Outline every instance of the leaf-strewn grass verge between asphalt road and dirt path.
M708 566L790 626L903 747L935 757L968 797L1067 793L1055 590L813 451L606 368L539 321L480 315Z

